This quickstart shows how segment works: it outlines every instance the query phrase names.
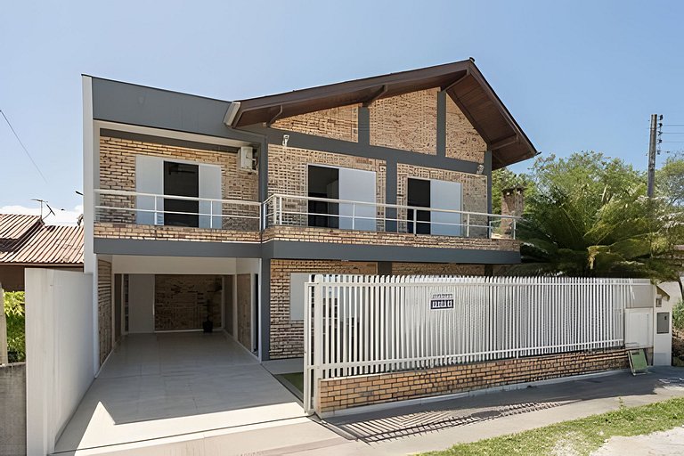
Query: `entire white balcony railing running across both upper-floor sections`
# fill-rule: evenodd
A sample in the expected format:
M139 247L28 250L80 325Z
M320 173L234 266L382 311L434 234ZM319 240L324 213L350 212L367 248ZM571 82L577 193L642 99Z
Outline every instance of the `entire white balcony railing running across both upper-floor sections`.
M124 224L261 231L269 226L516 238L519 217L400 204L273 194L263 203L95 190L95 220Z

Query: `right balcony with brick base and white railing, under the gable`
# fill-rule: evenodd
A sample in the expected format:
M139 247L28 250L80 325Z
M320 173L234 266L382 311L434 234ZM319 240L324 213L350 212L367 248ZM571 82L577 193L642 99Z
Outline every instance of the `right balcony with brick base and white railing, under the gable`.
M517 250L517 220L482 212L274 194L263 240Z

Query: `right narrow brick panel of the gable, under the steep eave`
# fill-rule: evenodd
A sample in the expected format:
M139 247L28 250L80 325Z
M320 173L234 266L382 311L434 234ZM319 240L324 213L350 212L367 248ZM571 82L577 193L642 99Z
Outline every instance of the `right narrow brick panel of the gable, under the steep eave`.
M485 162L487 143L463 115L452 97L446 96L446 156L450 159L461 159Z

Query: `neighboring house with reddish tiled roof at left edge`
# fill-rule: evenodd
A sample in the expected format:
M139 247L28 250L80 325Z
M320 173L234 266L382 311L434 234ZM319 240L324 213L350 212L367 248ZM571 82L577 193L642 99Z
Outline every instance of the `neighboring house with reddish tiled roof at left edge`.
M83 270L83 227L46 225L40 216L0 214L0 283L24 290L28 267Z

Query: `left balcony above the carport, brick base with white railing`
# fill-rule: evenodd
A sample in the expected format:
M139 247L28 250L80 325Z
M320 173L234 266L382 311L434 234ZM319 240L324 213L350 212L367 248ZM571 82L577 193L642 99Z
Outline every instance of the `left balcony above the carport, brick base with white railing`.
M259 242L261 203L95 190L94 237Z

